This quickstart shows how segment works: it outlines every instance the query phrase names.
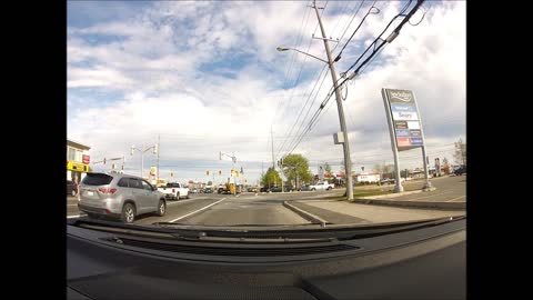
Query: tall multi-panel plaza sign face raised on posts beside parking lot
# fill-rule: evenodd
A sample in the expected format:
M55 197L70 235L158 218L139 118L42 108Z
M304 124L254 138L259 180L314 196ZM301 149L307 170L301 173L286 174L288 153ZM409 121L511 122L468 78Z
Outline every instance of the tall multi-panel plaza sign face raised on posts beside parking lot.
M383 89L383 100L386 117L393 124L391 133L398 151L422 147L424 139L414 93L410 90Z

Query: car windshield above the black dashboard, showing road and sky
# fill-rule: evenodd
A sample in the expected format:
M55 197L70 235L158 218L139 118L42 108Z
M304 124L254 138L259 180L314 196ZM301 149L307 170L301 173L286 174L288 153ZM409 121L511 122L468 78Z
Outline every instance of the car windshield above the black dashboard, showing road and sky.
M464 216L465 7L68 1L67 218Z

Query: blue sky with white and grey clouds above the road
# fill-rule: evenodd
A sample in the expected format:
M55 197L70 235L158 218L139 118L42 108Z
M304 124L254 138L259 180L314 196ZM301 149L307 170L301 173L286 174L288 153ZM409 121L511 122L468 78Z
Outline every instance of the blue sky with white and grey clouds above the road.
M414 2L408 9L410 10ZM141 154L160 140L160 177L224 181L232 168L249 183L283 154L301 153L313 172L340 171L342 146L334 97L309 121L332 88L314 9L305 1L69 1L68 139L91 147L91 161L125 157L139 176ZM341 74L406 1L318 1ZM409 11L408 10L408 11ZM425 13L424 13L425 12ZM383 34L395 28L398 18ZM466 141L464 1L428 1L400 36L342 90L354 171L393 163L382 88L414 91L430 162L453 160ZM313 38L313 36L315 38ZM372 50L372 49L371 49ZM370 51L371 51L370 50ZM324 70L325 69L325 70ZM324 71L323 71L324 70ZM322 72L323 71L323 72ZM323 82L323 83L322 83ZM300 142L298 142L300 140ZM291 151L292 150L292 151ZM222 160L219 153L222 151ZM143 154L144 172L157 156ZM400 152L400 167L422 167L421 149ZM110 166L94 164L97 170ZM222 176L219 177L219 170Z

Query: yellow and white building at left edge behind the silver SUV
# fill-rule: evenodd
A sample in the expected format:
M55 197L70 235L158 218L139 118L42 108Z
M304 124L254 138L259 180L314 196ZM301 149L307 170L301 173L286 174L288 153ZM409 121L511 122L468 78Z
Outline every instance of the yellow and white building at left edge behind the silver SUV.
M67 180L81 182L89 169L89 146L67 140Z

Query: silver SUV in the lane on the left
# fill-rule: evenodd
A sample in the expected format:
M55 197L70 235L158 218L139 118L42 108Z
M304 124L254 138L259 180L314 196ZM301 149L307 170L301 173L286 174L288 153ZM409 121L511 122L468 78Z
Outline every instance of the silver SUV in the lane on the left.
M164 196L148 181L129 174L87 173L80 183L78 208L90 218L111 217L131 223L142 213L164 216Z

